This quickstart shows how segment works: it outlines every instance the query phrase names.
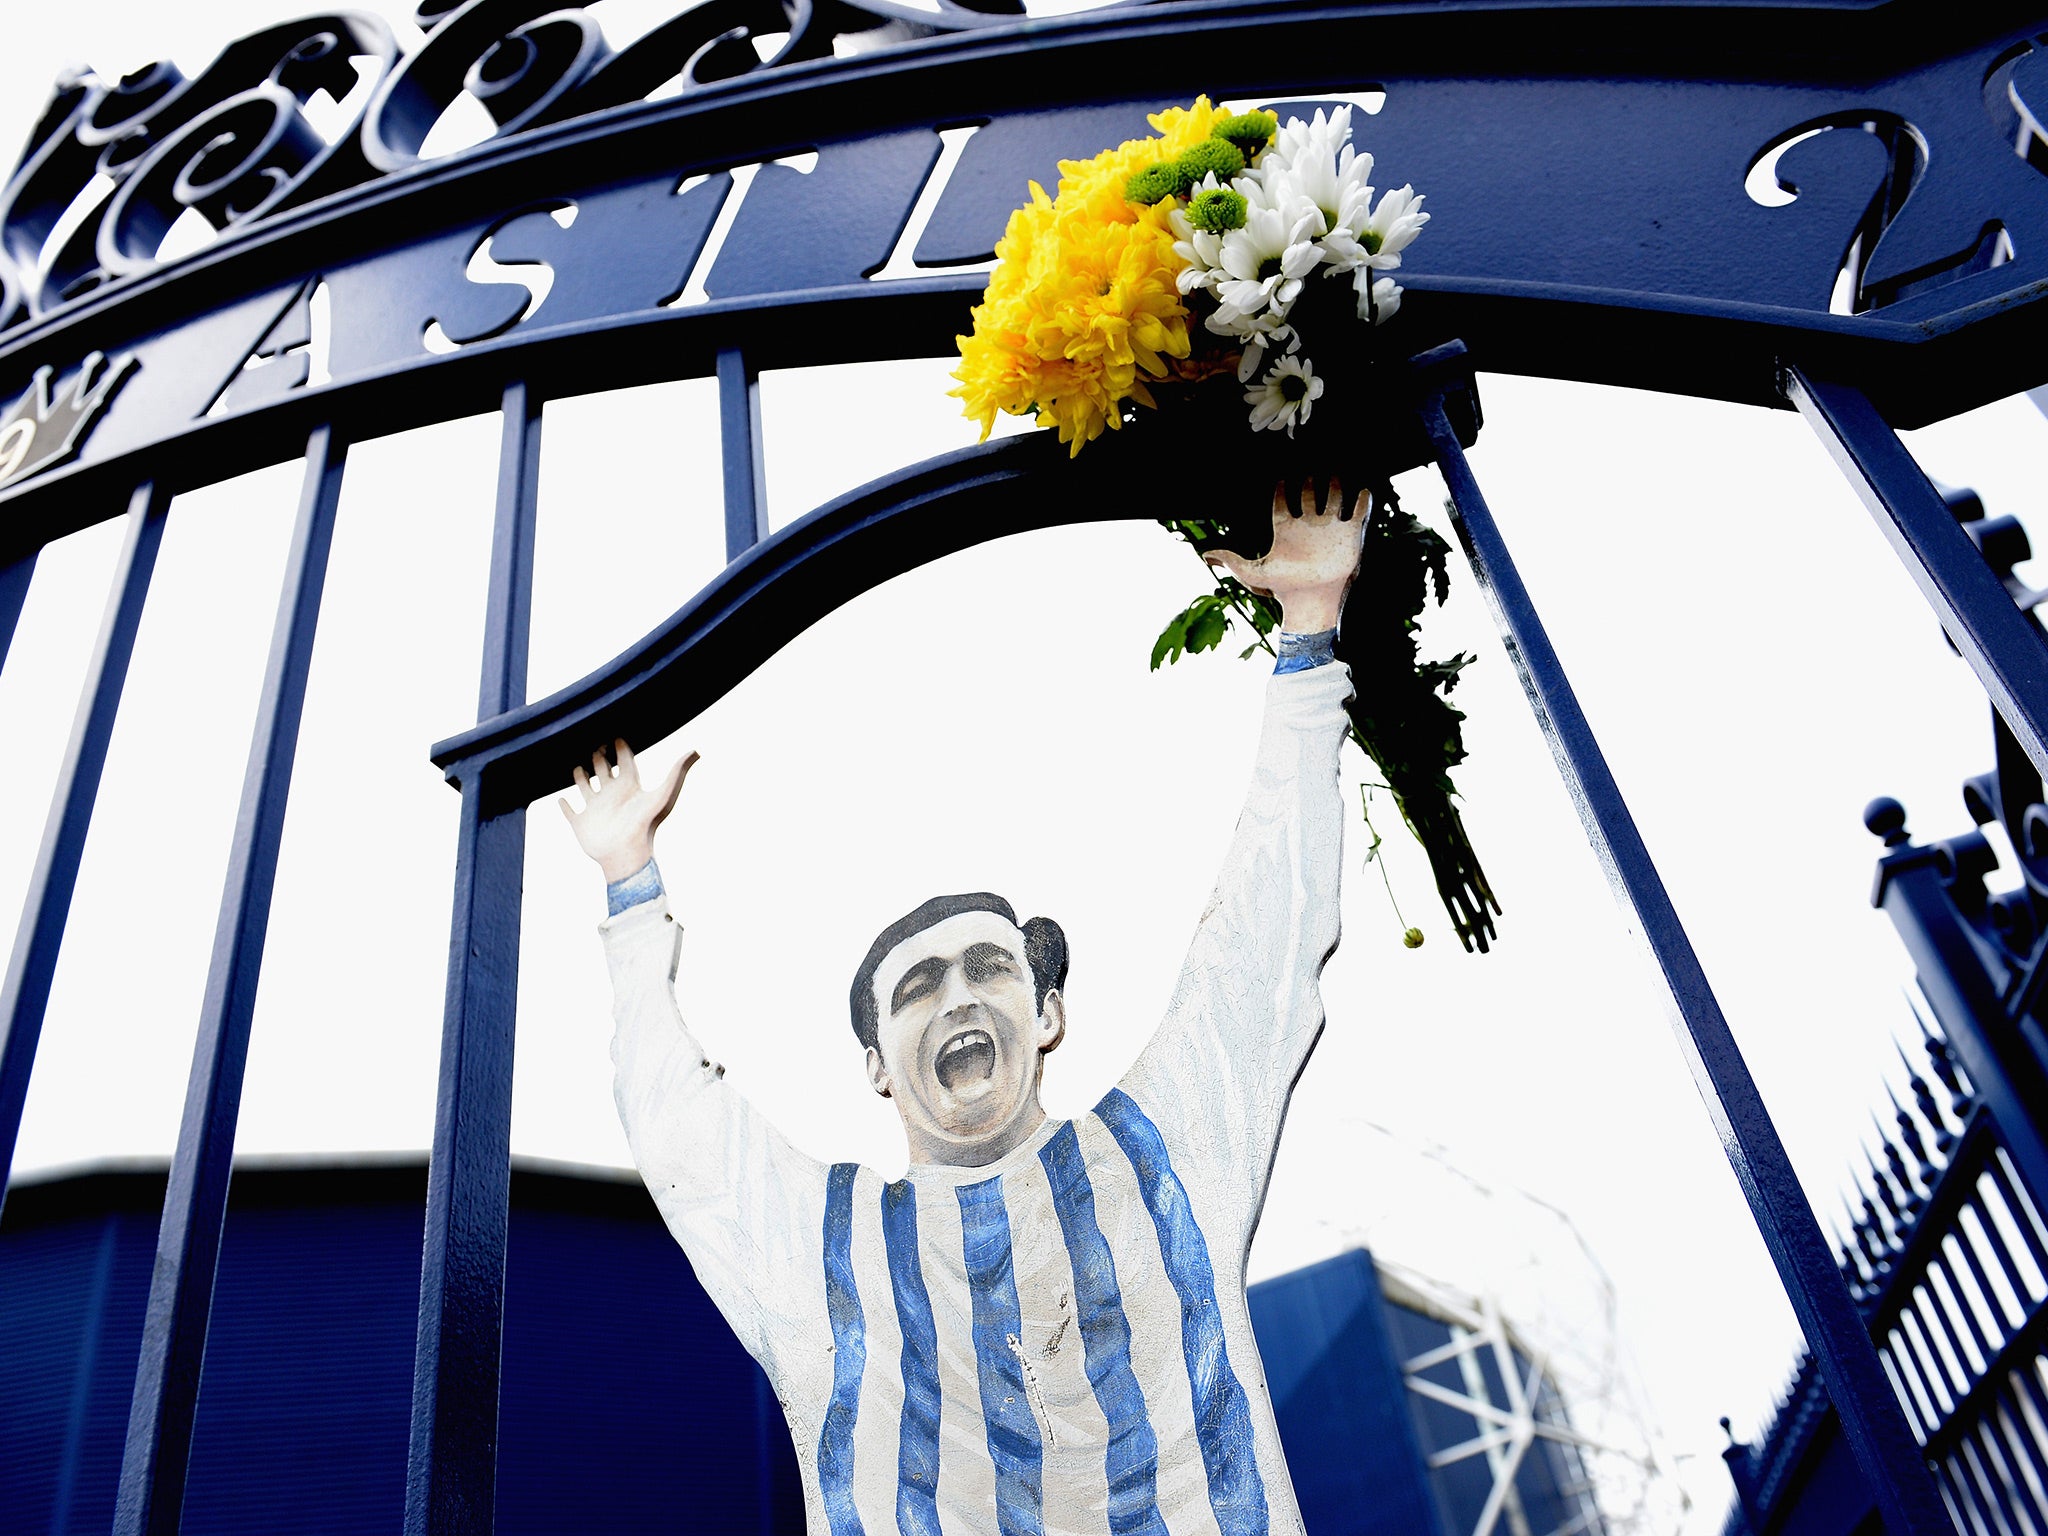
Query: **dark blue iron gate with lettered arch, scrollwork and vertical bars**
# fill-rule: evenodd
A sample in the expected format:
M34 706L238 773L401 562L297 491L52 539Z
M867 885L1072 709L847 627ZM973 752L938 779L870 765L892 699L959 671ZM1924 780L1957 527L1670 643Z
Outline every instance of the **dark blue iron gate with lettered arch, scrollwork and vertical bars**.
M426 0L401 57L313 16L51 100L0 195L0 643L37 551L127 520L0 993L12 1155L84 834L172 494L303 455L172 1163L117 1530L174 1532L283 809L348 444L500 410L477 721L434 748L463 797L426 1208L408 1530L492 1526L526 805L592 741L670 733L889 575L1102 506L1147 463L1042 434L903 469L768 537L764 369L950 350L1026 178L1198 90L1384 90L1374 143L1444 215L1405 272L1417 356L1370 424L1434 461L1466 557L1892 1532L1950 1528L1866 1321L1464 461L1473 367L1798 410L1841 463L2019 754L2048 772L2048 643L1898 442L2040 385L2048 10L1985 0L1518 4L1186 0L1022 16L1014 0L707 0L616 55L553 0ZM1669 41L1667 41L1669 39ZM1683 39L1679 47L1675 39ZM1767 39L1759 43L1759 39ZM303 104L379 72L334 141ZM1141 82L1141 84L1139 84ZM422 160L461 94L485 143ZM780 164L815 154L797 170ZM94 180L98 178L98 180ZM1561 219L1556 186L1583 188ZM1763 188L1767 197L1755 195ZM86 203L74 209L74 203ZM551 211L575 209L571 225ZM160 262L197 209L219 238ZM793 227L829 240L788 240ZM1542 240L1530 240L1540 229ZM545 264L545 303L477 285ZM315 299L332 313L311 377ZM729 563L600 672L526 700L541 406L715 377ZM973 516L958 516L971 506ZM2017 1153L2015 1153L2017 1157Z

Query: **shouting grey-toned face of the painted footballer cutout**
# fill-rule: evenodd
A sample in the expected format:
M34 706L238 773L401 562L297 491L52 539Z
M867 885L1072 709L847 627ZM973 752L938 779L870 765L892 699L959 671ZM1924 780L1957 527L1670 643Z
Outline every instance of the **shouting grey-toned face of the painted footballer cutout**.
M868 1081L895 1102L913 1163L983 1167L1044 1122L1038 1077L1067 1028L1036 1001L1024 934L963 911L911 934L874 971Z

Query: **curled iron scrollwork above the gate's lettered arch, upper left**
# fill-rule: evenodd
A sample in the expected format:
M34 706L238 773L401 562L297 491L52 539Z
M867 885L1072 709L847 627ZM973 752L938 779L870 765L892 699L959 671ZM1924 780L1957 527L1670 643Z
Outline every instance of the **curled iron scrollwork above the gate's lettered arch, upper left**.
M510 137L1022 14L1022 0L705 0L614 51L586 8L426 0L410 55L379 16L332 12L252 33L195 78L168 61L113 84L72 74L0 190L0 332L160 266L180 219L197 215L197 248L420 164L465 96L487 137Z

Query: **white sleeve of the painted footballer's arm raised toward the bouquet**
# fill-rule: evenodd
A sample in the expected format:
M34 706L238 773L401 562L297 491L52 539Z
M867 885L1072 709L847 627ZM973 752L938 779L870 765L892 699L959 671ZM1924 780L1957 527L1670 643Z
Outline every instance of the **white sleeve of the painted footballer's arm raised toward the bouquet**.
M1124 1077L1169 1145L1229 1204L1257 1212L1294 1079L1323 1032L1319 981L1337 948L1343 803L1337 752L1352 674L1278 674L1237 836L1165 1022ZM1245 1233L1249 1237L1249 1231Z

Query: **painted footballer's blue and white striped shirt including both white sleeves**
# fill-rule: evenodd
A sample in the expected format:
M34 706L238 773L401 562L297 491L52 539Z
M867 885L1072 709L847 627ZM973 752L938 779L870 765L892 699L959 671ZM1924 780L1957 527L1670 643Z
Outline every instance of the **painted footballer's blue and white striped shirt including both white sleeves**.
M1090 1114L987 1167L799 1153L682 1026L664 901L604 924L635 1161L776 1386L813 1536L1300 1530L1243 1276L1323 1026L1350 678L1268 688L1165 1022Z

